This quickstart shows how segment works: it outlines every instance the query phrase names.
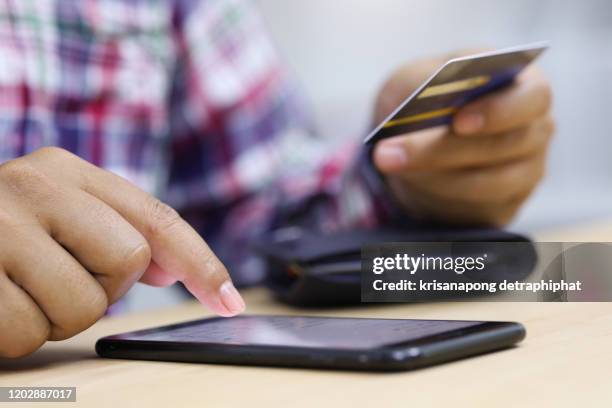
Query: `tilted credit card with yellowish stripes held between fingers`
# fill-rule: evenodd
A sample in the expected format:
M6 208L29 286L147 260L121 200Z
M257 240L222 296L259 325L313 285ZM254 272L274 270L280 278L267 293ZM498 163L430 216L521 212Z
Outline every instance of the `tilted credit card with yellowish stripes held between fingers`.
M450 124L459 108L510 85L547 48L547 43L539 42L449 60L374 128L364 143Z

